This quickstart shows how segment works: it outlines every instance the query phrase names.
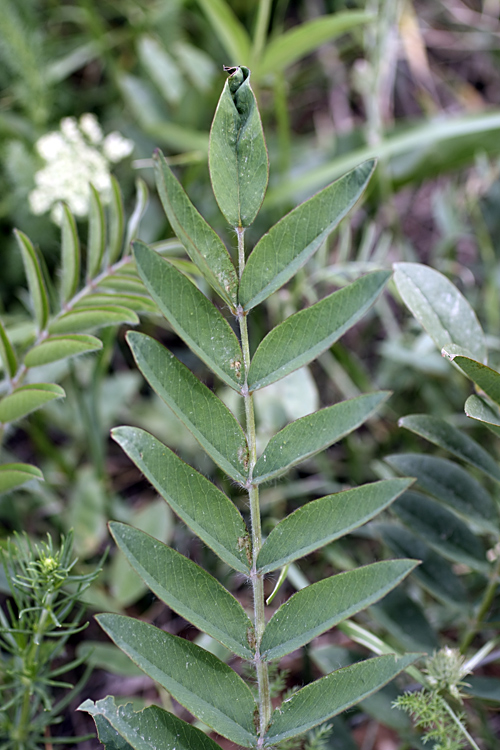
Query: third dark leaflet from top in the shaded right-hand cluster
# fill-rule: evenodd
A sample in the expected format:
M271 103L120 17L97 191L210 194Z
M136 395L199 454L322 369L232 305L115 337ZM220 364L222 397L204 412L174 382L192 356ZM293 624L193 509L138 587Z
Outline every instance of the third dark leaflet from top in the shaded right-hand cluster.
M435 500L407 491L393 503L392 510L410 531L447 560L488 572L482 541L464 521Z

